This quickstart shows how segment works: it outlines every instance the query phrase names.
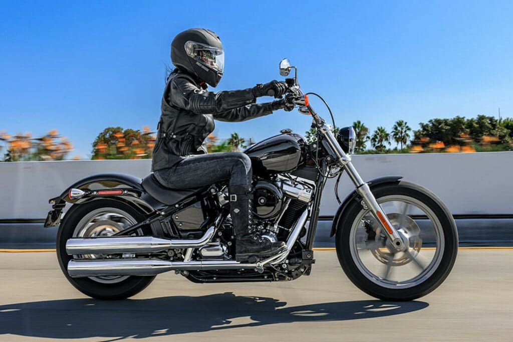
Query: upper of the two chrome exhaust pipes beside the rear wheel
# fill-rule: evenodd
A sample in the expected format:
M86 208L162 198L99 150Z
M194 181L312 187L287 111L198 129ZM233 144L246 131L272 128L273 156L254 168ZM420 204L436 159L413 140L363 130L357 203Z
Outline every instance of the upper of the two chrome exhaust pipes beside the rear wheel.
M154 236L113 236L100 238L71 238L66 242L66 252L77 254L136 254L155 253L176 248L198 248L207 244L215 233L211 226L199 239L172 240Z

